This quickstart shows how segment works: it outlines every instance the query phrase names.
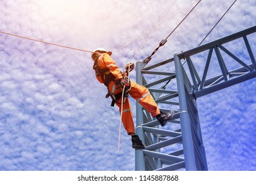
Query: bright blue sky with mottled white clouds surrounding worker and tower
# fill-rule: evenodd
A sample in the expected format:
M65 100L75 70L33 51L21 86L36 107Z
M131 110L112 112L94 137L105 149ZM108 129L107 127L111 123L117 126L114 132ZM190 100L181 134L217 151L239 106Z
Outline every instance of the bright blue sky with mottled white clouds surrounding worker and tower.
M197 47L233 2L201 1L150 62ZM195 3L0 0L0 30L104 47L123 68L148 57ZM236 1L203 43L255 26L255 7ZM255 39L251 45L255 51ZM95 79L90 53L0 34L0 66L0 170L134 170L123 127L118 152L120 114ZM253 79L197 99L209 170L256 170L255 86Z

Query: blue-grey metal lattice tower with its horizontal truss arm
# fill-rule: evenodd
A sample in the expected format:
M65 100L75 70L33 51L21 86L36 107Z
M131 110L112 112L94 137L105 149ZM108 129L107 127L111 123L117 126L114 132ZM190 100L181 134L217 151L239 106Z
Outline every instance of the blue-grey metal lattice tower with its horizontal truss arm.
M249 44L255 32L253 26L152 66L136 63L137 83L149 89L161 111L175 112L165 127L159 127L157 120L136 104L136 132L147 145L145 150L136 150L136 170L208 170L196 99L256 77ZM243 60L234 53L243 55ZM183 59L186 65L181 63ZM211 64L219 66L219 74L209 72ZM160 72L166 71L161 67L176 72ZM166 81L174 89L163 86Z

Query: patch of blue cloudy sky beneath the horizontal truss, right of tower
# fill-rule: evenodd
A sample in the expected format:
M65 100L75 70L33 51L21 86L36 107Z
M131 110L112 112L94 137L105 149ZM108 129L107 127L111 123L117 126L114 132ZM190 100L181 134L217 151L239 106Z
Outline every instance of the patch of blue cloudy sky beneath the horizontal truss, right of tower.
M253 83L255 80L246 81L199 99L209 170L255 170L253 162L242 164L243 159L253 159L254 154L249 156L246 153L255 150L255 143L249 141L255 137L251 124L254 122L253 109L249 110L249 106L254 106L256 101L250 96L254 93ZM233 160L243 154L248 157Z

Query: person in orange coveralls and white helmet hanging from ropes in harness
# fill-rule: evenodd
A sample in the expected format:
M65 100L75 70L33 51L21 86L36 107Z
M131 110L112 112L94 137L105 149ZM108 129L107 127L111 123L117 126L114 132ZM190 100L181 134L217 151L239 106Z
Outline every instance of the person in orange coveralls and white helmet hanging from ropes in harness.
M113 58L111 58L111 51L107 51L104 48L97 48L91 54L91 58L94 61L93 69L95 70L95 76L100 83L104 83L108 89L108 95L113 99L113 104L119 107L119 112L122 109L122 123L126 129L128 135L132 136L132 148L144 149L145 145L142 143L140 137L136 135L134 131L134 121L132 116L132 109L128 99L127 92L131 97L136 99L138 103L147 110L152 117L157 118L161 126L165 126L167 121L172 118L174 111L161 112L155 103L153 97L149 93L149 90L138 83L129 80L124 76ZM126 95L122 99L122 91L125 87ZM106 97L107 97L106 96Z

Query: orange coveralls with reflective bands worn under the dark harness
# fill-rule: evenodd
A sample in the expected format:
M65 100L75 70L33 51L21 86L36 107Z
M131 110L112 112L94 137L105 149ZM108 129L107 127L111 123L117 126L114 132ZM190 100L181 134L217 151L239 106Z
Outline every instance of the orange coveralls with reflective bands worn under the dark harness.
M97 59L97 67L99 69L108 68L109 71L113 74L113 76L115 76L116 79L122 78L122 72L116 65L115 61L107 53L103 53L99 56L99 58ZM101 76L97 76L96 71L95 71L95 76L100 83L104 83L103 78L101 78ZM131 88L129 91L130 96L136 99L136 101L138 101L138 103L140 103L141 106L143 106L143 108L145 108L145 110L147 110L151 114L151 116L155 117L158 114L160 114L160 110L157 106L157 103L155 103L153 97L149 93L149 90L146 87L139 85L138 83L132 80L130 84L131 84ZM111 81L107 87L109 91L114 95L118 93L122 93L122 87L116 85L114 80ZM116 103L116 105L119 107L119 112L120 112L122 97L118 99L117 102L118 103ZM135 133L132 109L131 109L128 98L123 103L122 112L120 113L122 113L122 123L128 135L130 135L130 133Z

